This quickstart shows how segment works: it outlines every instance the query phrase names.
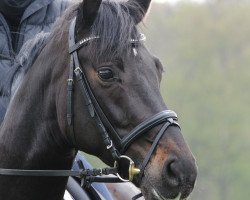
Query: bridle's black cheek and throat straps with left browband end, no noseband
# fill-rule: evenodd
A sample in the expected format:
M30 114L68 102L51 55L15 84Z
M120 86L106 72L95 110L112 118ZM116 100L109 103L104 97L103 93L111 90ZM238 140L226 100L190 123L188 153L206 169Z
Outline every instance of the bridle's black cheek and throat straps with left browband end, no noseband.
M98 39L99 36L93 36L88 37L85 39L80 40L79 42L75 43L75 23L76 18L74 18L70 24L69 28L69 53L70 53L70 72L69 72L69 79L73 80L74 75L76 77L76 83L80 87L80 92L84 98L85 106L87 107L89 114L91 118L93 118L97 124L97 128L99 129L99 132L101 133L101 136L103 138L103 141L107 147L107 149L111 152L112 157L114 160L117 160L119 158L119 153L115 146L113 145L112 140L109 137L109 134L106 130L106 127L104 126L104 123L101 119L107 119L103 117L102 109L100 108L97 100L95 99L94 94L91 91L91 88L89 86L88 80L86 78L85 73L83 72L83 68L80 65L77 50L79 50L81 47L87 45L91 40ZM69 87L69 86L68 86ZM73 130L73 123L72 123L72 116L73 116L73 95L72 95L72 89L68 90L68 105L67 105L67 116L68 116L68 125L69 130ZM94 102L94 103L93 103ZM97 109L96 109L97 107ZM100 118L100 114L102 118ZM110 125L110 123L107 123L108 120L105 120L105 124ZM111 126L111 125L110 125ZM114 129L111 129L114 130ZM72 138L72 141L74 141L74 144L77 145L76 139L75 139L75 133L74 131L69 131L70 137ZM113 134L114 136L118 136L117 133Z

